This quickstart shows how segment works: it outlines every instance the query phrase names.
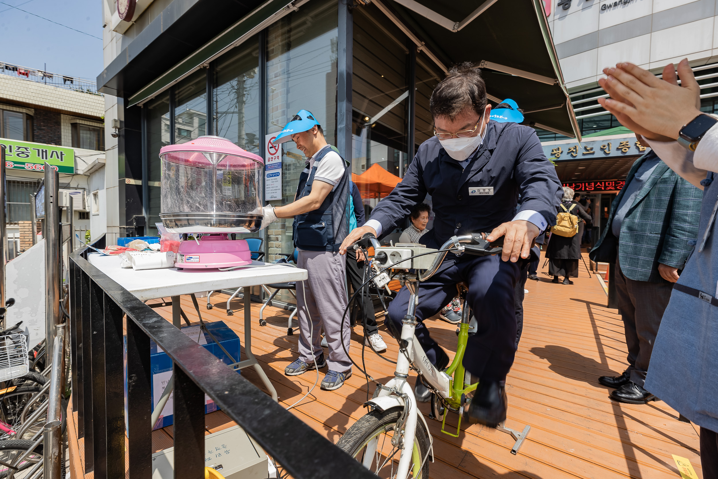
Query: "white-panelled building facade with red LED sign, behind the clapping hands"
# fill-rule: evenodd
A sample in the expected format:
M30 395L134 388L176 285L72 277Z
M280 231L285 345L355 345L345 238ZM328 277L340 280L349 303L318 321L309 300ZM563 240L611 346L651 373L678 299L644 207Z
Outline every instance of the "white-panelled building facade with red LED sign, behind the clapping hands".
M645 152L597 102L607 96L598 85L602 70L633 62L661 75L668 63L687 57L701 85L701 109L716 112L716 1L546 0L544 6L583 141L550 131L538 135L561 182L592 200L600 231L631 164ZM587 153L592 146L595 153Z

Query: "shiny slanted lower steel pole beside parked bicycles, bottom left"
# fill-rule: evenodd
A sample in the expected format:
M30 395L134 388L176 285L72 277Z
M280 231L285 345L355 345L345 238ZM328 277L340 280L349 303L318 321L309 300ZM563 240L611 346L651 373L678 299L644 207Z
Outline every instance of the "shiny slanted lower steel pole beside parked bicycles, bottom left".
M62 479L62 373L65 355L65 325L57 325L53 344L52 371L50 372L50 404L47 408L47 424L42 431L42 456L44 479ZM49 358L50 356L48 356Z

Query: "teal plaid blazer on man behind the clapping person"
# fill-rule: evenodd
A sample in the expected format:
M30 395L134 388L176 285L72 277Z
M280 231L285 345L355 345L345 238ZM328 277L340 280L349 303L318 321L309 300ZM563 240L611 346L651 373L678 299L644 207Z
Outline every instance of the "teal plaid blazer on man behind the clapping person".
M626 185L648 155L655 153L649 152L633 163ZM676 175L668 165L658 162L626 213L616 241L611 223L625 190L623 187L611 204L608 223L591 251L591 259L615 262L617 254L626 277L635 281L666 282L658 273L658 263L684 268L696 245L703 192Z

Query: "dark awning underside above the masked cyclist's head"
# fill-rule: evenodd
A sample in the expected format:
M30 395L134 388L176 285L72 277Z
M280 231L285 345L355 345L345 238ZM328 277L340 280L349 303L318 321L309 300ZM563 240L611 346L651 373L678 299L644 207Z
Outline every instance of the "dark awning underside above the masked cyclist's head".
M541 0L372 3L390 18L396 14L409 37L424 42L419 48L444 68L481 65L489 98L513 98L525 124L580 139Z

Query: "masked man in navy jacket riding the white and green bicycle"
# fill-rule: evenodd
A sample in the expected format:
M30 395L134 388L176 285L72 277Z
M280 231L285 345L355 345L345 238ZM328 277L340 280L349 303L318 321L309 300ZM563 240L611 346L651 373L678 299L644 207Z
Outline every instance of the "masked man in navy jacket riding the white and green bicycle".
M505 379L516 353L518 260L528 259L533 239L556 222L563 191L530 126L490 119L484 81L470 63L449 71L434 88L429 108L435 136L421 144L404 179L374 208L367 223L347 236L341 251L365 233L391 231L427 194L432 195L434 228L421 242L429 248L454 235L490 232L489 241L504 236L501 256L447 254L437 273L417 288L416 307L421 322L416 338L429 360L444 368L447 353L422 321L449 302L457 283L469 285L468 300L479 325L469 339L464 366L480 380L465 414L470 422L495 427L506 418ZM388 308L398 327L408 301L404 287ZM417 399L430 396L420 381L415 393Z

